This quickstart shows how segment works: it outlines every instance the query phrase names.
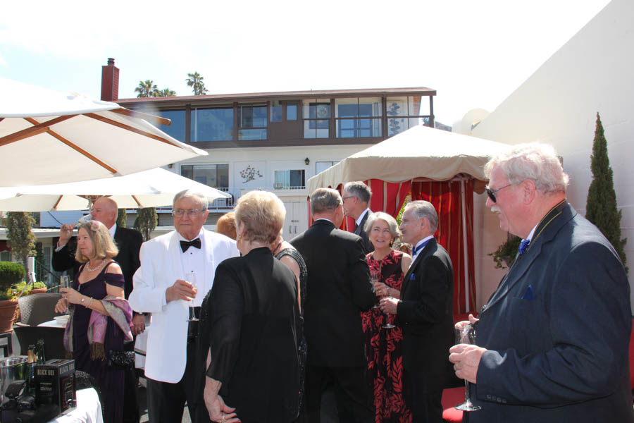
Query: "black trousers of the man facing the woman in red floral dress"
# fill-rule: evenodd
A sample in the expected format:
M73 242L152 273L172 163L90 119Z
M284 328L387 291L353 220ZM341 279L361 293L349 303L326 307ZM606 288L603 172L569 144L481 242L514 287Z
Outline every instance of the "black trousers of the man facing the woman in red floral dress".
M403 393L414 423L442 423L442 388L430 385L422 372L403 369Z

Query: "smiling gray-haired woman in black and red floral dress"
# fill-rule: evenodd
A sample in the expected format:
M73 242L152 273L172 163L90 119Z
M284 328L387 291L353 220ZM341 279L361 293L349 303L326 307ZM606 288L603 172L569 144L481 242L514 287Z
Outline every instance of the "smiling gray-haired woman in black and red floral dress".
M368 217L364 227L374 246L366 256L370 274L378 274L374 288L377 300L385 296L399 298L403 275L411 264L411 257L392 249L401 233L397 221L389 214L378 212ZM411 422L411 412L403 398L403 333L398 326L383 326L393 319L378 308L361 314L366 335L368 369L374 382L375 422Z

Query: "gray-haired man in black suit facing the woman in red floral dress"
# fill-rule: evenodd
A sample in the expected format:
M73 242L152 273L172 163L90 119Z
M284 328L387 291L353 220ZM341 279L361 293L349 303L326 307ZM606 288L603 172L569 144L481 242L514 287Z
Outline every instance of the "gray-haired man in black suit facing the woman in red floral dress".
M404 394L414 422L442 422L440 399L452 376L447 353L454 343L454 270L434 238L437 225L430 202L407 204L400 229L412 245L412 263L401 299L384 298L379 305L396 314L403 329Z

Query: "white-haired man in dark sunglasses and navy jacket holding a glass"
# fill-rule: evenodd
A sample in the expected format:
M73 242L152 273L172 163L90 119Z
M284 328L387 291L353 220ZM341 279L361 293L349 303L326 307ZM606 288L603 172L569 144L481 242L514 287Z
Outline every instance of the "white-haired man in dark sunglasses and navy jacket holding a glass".
M487 207L523 242L479 321L469 317L475 345L449 350L481 407L464 421L634 422L619 256L566 202L568 176L549 145L517 145L485 174Z

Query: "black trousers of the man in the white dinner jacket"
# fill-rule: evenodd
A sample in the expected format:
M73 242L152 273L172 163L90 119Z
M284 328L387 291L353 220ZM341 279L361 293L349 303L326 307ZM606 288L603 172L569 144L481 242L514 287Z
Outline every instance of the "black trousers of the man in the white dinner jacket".
M189 322L189 333L197 333L197 325ZM197 322L196 322L197 323ZM195 326L195 329L193 329ZM185 373L175 384L147 379L147 413L149 423L175 423L182 421L182 410L187 401L187 409L195 422L197 398L194 387L196 369L196 338L187 338L187 364ZM203 405L204 406L204 405Z

